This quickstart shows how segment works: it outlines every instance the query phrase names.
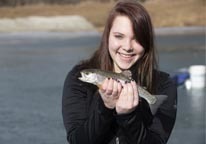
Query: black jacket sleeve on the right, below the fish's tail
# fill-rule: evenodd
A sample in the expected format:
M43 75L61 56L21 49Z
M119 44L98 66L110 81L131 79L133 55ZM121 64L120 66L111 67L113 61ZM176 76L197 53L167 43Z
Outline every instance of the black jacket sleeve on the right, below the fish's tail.
M169 76L160 83L158 94L167 95L168 98L154 116L145 100L141 101L134 112L116 116L127 143L167 143L176 119L177 88Z

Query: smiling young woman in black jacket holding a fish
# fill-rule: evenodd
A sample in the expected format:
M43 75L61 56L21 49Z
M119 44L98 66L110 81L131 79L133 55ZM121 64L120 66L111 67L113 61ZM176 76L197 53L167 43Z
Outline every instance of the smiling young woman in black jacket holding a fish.
M107 78L101 89L81 82L80 71L96 68L132 72L131 82ZM167 95L152 115L139 86ZM166 144L176 118L177 89L169 75L157 70L150 16L135 0L117 2L111 10L94 55L75 66L63 90L63 120L70 144Z

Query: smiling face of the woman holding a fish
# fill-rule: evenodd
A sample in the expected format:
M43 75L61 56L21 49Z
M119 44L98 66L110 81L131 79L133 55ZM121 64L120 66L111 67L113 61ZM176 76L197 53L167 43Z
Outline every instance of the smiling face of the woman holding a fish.
M144 48L136 41L132 23L127 16L117 16L109 34L109 53L114 71L129 69L144 54Z

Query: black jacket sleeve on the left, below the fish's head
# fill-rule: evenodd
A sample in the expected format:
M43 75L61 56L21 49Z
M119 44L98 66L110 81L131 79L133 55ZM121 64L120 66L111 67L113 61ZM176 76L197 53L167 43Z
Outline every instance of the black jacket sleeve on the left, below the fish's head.
M100 96L91 91L92 85L80 82L76 73L73 70L68 74L63 89L62 114L67 140L70 144L97 144L109 131L113 110L107 109Z

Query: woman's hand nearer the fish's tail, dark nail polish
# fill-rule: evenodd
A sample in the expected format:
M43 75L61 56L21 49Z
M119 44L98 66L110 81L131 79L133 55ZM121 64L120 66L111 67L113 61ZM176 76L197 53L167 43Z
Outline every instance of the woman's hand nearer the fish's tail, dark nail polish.
M117 114L127 114L132 112L139 104L137 84L131 81L123 84L123 89L116 102Z

